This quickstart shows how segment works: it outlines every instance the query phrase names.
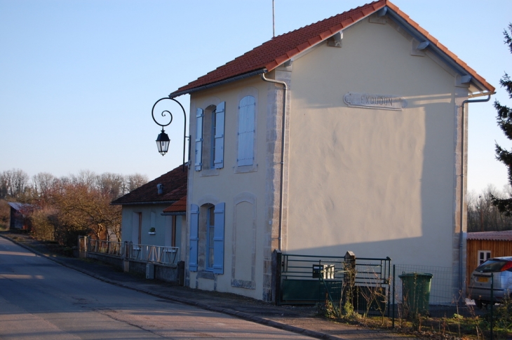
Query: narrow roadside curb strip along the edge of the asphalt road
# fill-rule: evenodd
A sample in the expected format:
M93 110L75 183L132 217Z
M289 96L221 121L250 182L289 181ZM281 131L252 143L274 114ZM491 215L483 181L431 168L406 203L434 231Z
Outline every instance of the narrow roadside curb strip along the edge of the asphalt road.
M16 240L13 240L12 238L10 238L8 236L0 235L0 237L5 238L6 240L10 240L11 242L15 243L16 245L19 245L20 247L23 247L26 250L29 250L30 252L33 252L36 255L39 255L40 257L46 257L46 259L54 261L55 263L60 264L61 266L65 266L67 268L73 269L74 271L79 271L80 273L86 274L87 276L91 276L91 277L96 278L97 280L100 280L100 281L105 282L105 283L110 283L112 285L117 285L117 286L120 286L120 287L125 287L125 288L128 288L130 290L135 290L136 292L142 292L142 293L145 293L145 294L149 294L149 295L151 295L153 297L159 297L161 299L167 299L167 300L170 300L170 301L179 302L181 304L187 304L189 306L195 306L197 308L205 309L207 311L215 311L215 312L218 312L218 313L224 313L224 314L227 314L227 315L235 316L236 318L241 318L243 320L248 320L248 321L251 321L251 322L256 322L256 323L259 323L260 325L266 325L266 326L269 326L269 327L273 327L273 328L277 328L277 329L282 329L282 330L285 330L287 332L292 332L292 333L301 334L301 335L305 335L305 336L311 336L311 337L316 338L316 339L345 340L344 338L340 338L339 336L332 336L330 334L325 334L325 333L322 333L322 332L316 332L316 331L312 331L310 329L305 329L305 328L302 328L302 327L287 325L285 323L277 322L277 321L274 321L274 320L268 320L268 319L260 318L259 316L250 315L248 313L243 313L243 312L235 311L235 310L230 309L230 308L221 308L221 307L217 307L217 306L211 306L211 305L205 304L203 302L198 302L198 301L194 301L194 300L191 300L191 299L185 299L185 298L180 298L180 297L173 297L173 296L170 296L168 294L161 294L161 293L151 292L150 290L145 290L145 289L142 289L142 288L139 288L139 287L135 287L134 285L127 285L127 284L121 283L119 281L110 280L108 278L104 278L102 276L99 276L96 273L92 273L90 271L87 271L87 270L85 270L83 268L79 268L77 266L73 266L72 264L67 264L65 261L62 261L62 260L58 259L58 257L50 257L47 254L43 254L43 253L39 252L38 250L34 250L32 247L29 247L29 246L24 245L22 243L18 243Z

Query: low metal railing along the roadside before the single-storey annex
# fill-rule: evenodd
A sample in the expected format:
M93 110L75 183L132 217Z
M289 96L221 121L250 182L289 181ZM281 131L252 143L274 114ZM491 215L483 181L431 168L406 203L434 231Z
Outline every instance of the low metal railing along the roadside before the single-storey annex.
M79 251L80 253L109 254L116 257L124 257L125 259L135 259L157 264L177 264L180 261L179 247L93 240L87 236L79 238Z

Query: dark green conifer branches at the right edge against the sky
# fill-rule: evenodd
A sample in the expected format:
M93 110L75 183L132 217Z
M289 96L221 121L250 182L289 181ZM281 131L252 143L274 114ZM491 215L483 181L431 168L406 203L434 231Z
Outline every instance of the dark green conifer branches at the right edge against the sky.
M505 37L504 43L512 53L512 23L508 24L508 31L505 29L503 34ZM512 80L508 74L499 80L499 85L505 88L508 97L512 99ZM512 108L506 105L501 105L497 100L494 101L494 108L498 111L497 123L499 128L504 132L508 140L512 140ZM512 186L512 151L503 149L496 144L496 159L504 163L508 168L508 184ZM500 212L504 212L506 216L512 216L512 197L497 198L492 196L492 204L496 205Z

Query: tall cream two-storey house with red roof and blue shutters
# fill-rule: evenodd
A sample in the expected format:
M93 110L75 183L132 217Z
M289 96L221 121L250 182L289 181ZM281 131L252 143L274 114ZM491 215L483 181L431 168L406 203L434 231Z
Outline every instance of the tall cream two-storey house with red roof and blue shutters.
M456 291L462 106L493 91L382 0L277 36L171 93L191 95L186 285L274 301L275 250L351 250L452 266Z

